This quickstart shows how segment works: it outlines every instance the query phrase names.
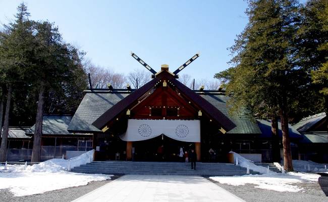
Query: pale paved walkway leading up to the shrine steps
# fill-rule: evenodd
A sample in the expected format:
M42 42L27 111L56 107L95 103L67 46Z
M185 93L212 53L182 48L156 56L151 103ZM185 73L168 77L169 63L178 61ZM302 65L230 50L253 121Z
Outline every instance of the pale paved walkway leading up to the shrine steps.
M244 201L199 176L124 175L79 198L86 201Z

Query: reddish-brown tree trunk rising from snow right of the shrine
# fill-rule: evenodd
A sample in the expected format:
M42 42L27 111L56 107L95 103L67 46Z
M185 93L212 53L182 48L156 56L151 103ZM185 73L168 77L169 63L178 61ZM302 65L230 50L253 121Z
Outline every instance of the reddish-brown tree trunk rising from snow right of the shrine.
M286 95L282 97L282 104L280 106L281 129L283 131L283 149L284 149L284 168L291 172L293 169L291 143L288 134L288 114L287 114L287 98Z

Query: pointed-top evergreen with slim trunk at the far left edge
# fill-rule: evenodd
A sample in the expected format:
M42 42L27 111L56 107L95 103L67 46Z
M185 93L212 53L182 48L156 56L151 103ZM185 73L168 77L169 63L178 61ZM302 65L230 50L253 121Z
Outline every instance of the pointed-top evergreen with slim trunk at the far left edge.
M31 67L30 56L33 53L33 28L28 19L29 13L24 3L17 8L16 20L0 33L0 80L3 90L7 88L7 102L4 116L4 130L0 146L0 161L7 158L7 140L9 132L9 114L12 93L15 86L19 87L24 79L24 69Z

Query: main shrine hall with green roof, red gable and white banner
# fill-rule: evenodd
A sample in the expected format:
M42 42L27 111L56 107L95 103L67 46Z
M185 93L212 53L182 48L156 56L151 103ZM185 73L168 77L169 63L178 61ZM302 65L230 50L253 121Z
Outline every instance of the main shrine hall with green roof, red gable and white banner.
M85 90L68 131L93 134L96 161L180 161L180 148L205 162L227 162L231 150L272 161L272 137L263 132L270 123L231 117L228 99L224 90L192 90L162 67L138 89Z

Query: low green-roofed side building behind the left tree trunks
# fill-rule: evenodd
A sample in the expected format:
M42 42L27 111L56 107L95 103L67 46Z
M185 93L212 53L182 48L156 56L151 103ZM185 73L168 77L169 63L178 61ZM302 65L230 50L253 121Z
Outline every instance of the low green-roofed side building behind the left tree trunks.
M92 134L70 133L67 127L72 116L44 115L42 122L41 161L71 158L92 149ZM32 127L9 127L8 161L30 161L33 148ZM1 140L1 139L0 139Z

